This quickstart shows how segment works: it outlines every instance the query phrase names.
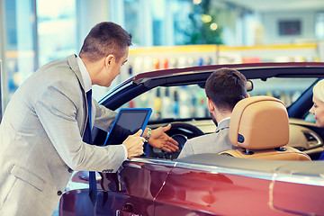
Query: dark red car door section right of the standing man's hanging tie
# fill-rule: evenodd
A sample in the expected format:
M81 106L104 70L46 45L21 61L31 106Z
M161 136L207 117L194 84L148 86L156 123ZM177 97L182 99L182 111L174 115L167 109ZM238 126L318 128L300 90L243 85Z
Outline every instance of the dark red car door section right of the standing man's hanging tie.
M102 174L95 215L154 215L154 200L172 166L142 161L125 162L118 175Z

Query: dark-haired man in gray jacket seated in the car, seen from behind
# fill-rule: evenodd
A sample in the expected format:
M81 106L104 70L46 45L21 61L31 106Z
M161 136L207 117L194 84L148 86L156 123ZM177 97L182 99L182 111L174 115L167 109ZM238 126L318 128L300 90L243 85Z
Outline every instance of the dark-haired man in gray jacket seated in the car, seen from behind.
M246 77L238 70L220 68L206 80L205 92L216 131L186 141L178 158L236 148L229 141L229 120L235 104L248 95Z

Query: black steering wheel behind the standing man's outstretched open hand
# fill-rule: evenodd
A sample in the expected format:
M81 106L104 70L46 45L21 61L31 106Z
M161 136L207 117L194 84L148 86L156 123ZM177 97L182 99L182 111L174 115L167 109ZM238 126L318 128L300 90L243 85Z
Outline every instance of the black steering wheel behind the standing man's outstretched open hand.
M179 149L175 152L169 153L162 149L154 148L148 144L146 148L146 154L148 157L175 159L180 154L181 149L184 148L184 143L187 139L202 136L204 132L190 123L174 122L171 123L171 129L167 130L166 134L179 143Z

